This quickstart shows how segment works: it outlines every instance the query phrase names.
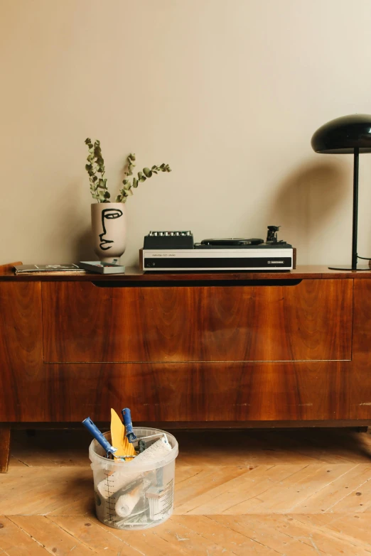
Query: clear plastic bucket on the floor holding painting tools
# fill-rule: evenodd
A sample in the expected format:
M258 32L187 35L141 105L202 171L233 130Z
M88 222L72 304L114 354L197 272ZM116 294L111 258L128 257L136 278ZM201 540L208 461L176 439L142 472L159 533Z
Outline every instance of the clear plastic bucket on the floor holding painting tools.
M115 462L107 459L93 440L89 457L94 476L97 518L115 529L147 529L166 521L173 513L175 460L178 442L169 432L133 427L138 439L166 435L171 451L149 462ZM105 437L111 441L111 433ZM146 452L144 452L146 453Z

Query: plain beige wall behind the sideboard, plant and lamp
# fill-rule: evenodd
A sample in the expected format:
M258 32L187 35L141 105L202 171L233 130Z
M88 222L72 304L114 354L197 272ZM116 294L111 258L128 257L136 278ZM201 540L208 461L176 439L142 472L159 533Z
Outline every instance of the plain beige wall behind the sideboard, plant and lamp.
M318 155L326 121L371 113L370 0L0 0L0 263L90 249L85 137L111 190L127 153L173 172L127 202L195 239L281 224L299 263L350 262L352 157ZM371 156L360 254L371 256Z

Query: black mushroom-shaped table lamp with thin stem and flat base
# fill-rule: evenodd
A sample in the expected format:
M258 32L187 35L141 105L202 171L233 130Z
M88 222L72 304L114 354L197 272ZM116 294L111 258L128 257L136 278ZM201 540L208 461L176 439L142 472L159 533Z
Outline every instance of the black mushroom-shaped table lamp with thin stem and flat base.
M314 133L311 146L316 153L354 155L352 265L329 268L337 271L369 271L369 266L357 267L357 230L358 162L360 153L371 153L371 115L351 114L328 121Z

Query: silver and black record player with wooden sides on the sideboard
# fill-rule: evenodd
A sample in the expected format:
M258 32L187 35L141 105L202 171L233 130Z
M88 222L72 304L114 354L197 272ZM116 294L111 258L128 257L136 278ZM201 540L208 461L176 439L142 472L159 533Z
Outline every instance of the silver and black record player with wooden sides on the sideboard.
M267 239L203 239L191 231L150 231L140 251L143 271L291 271L296 249L277 239L279 226L268 226Z

